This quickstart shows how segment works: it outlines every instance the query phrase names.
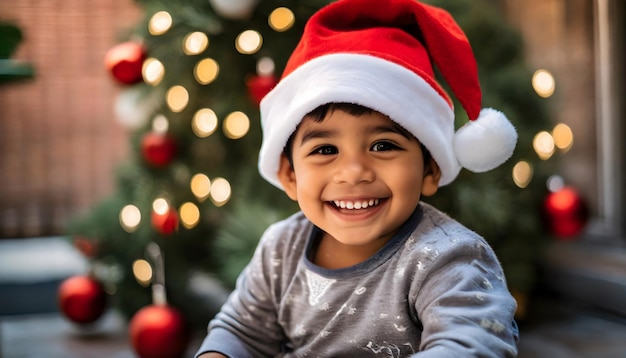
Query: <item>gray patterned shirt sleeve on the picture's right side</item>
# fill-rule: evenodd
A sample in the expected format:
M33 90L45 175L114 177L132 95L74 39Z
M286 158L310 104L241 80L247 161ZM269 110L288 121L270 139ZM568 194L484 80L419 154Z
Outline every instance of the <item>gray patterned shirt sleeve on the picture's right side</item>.
M515 357L516 303L494 252L465 230L447 235L416 284L416 314L423 325L414 357Z

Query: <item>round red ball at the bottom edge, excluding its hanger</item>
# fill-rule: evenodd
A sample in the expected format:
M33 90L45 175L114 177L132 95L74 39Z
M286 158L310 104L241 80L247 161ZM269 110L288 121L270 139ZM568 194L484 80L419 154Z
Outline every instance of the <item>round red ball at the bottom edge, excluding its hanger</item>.
M168 305L146 306L129 325L130 342L141 358L178 358L189 342L182 314Z

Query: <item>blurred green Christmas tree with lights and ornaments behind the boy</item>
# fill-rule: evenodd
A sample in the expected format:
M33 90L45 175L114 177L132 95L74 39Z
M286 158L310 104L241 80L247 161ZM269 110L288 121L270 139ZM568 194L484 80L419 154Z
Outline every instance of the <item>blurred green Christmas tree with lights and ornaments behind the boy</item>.
M257 173L258 103L308 17L328 1L137 2L144 20L105 59L124 86L115 106L131 153L116 173L116 192L77 217L68 233L129 317L151 302L155 260L147 251L157 244L170 303L204 326L221 301L193 282L209 275L232 287L265 228L297 209ZM546 237L540 209L552 170L532 141L550 129L547 114L530 85L519 35L488 2L430 2L467 32L484 106L503 110L520 139L506 165L463 172L429 201L487 238L511 290L529 292ZM457 116L467 121L461 110ZM532 168L532 180L528 171L514 178L520 163Z

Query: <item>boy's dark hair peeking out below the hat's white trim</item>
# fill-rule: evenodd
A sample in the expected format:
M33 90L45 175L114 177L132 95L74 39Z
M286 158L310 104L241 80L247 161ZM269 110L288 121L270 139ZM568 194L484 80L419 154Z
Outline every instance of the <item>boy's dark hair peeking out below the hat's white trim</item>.
M324 120L324 118L326 118L326 115L328 115L328 113L332 113L334 111L343 111L353 116L362 116L364 114L372 114L376 112L375 110L369 107L362 106L360 104L339 102L339 103L323 104L315 108L311 112L307 113L304 116L304 118L311 118L316 122L321 122ZM409 138L415 138L415 136L411 132L406 130L404 127L402 127L401 125L397 123L396 125L398 126L398 130L400 130L400 132L402 132L404 135L406 135ZM289 139L287 139L287 143L285 144L285 147L283 148L283 153L287 157L287 160L289 161L289 165L291 165L292 168L293 168L292 147L293 147L293 140L296 136L297 131L298 131L298 127L296 127L296 130L289 136ZM424 168L426 168L426 170L429 171L430 166L428 164L432 160L430 152L428 151L428 149L426 149L426 147L422 144L422 142L420 142L417 138L415 138L415 140L419 142L420 147L422 148Z

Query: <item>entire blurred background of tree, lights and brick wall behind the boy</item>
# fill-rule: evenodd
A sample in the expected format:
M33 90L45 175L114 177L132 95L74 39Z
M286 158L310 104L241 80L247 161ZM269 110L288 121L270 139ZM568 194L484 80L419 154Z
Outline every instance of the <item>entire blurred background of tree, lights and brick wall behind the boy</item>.
M328 2L0 2L0 357L193 353L297 210L256 171L258 103ZM496 250L521 355L626 356L626 4L427 2L520 134L429 201Z

